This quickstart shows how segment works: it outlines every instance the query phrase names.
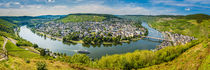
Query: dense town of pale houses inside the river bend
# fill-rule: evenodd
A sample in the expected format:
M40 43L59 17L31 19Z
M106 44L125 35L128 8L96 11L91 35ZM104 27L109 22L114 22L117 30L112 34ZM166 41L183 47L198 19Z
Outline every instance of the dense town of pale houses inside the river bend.
M85 37L108 37L120 36L120 39L140 37L146 34L146 29L140 23L126 19L110 19L102 22L55 22L37 25L36 31L51 35L52 37L63 38L68 35L76 35L77 39ZM119 38L119 37L118 37ZM120 41L120 40L118 40Z

